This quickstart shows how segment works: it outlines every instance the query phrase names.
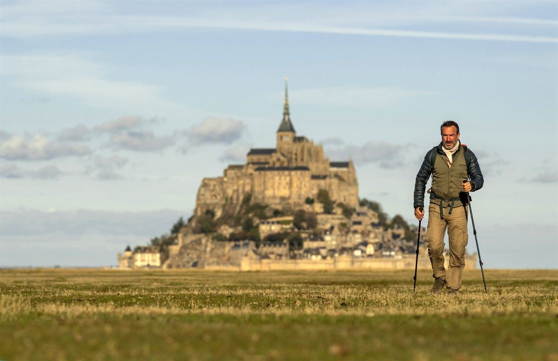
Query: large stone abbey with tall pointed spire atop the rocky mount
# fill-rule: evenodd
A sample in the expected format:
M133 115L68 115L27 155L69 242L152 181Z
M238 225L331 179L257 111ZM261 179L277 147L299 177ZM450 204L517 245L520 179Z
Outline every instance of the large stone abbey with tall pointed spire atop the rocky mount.
M358 207L358 181L352 160L330 162L321 145L297 136L291 122L285 83L283 118L275 148L253 148L246 163L229 165L221 177L204 178L196 198L195 215L211 210L236 213L243 200L277 209L299 209L307 199L327 190L336 203ZM247 198L249 196L249 198Z

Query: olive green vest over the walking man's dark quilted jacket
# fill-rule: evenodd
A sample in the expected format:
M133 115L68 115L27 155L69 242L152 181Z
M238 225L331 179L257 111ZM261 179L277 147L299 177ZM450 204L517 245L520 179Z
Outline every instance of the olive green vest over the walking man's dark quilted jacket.
M432 190L430 192L430 203L441 207L454 208L462 206L459 201L459 193L463 192L463 181L468 180L467 165L465 163L464 148L454 153L451 168L446 162L445 155L437 154L432 169Z

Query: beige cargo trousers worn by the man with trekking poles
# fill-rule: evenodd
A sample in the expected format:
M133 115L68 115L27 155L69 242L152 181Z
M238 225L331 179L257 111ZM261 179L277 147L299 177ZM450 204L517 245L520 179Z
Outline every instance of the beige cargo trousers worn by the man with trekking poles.
M456 206L451 214L449 207L444 208L444 216L440 218L440 207L430 204L428 207L428 228L426 242L428 255L432 263L435 278L446 280L446 287L459 290L461 276L465 267L465 247L469 241L467 234L467 209L465 206ZM444 268L444 236L448 229L449 237L449 266L448 272Z

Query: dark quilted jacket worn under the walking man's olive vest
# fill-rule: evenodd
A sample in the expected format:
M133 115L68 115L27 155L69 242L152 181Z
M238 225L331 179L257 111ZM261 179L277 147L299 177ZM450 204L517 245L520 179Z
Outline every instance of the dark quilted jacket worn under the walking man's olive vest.
M469 174L472 191L479 190L483 187L484 178L483 174L480 171L479 162L477 161L477 157L466 146L459 147L458 152L465 152L465 163L467 165L467 173ZM415 195L413 201L413 208L417 207L424 207L424 191L426 189L426 183L432 174L432 169L434 168L434 160L436 154L444 155L444 151L442 150L442 143L437 147L432 148L429 152L426 153L424 157L424 161L420 167L419 172L417 173L417 177L415 180Z

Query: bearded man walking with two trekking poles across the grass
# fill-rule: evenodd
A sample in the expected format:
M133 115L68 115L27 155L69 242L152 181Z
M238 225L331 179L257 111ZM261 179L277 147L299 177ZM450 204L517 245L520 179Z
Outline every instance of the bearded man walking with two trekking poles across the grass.
M428 230L426 242L435 278L433 293L440 293L444 286L448 293L461 287L465 267L467 234L467 192L482 188L484 179L474 153L459 141L459 126L453 121L441 127L442 141L426 153L415 180L415 218L424 218L424 192L432 175ZM469 181L470 179L470 181ZM422 209L422 210L421 210ZM444 268L444 235L448 229L449 266Z

